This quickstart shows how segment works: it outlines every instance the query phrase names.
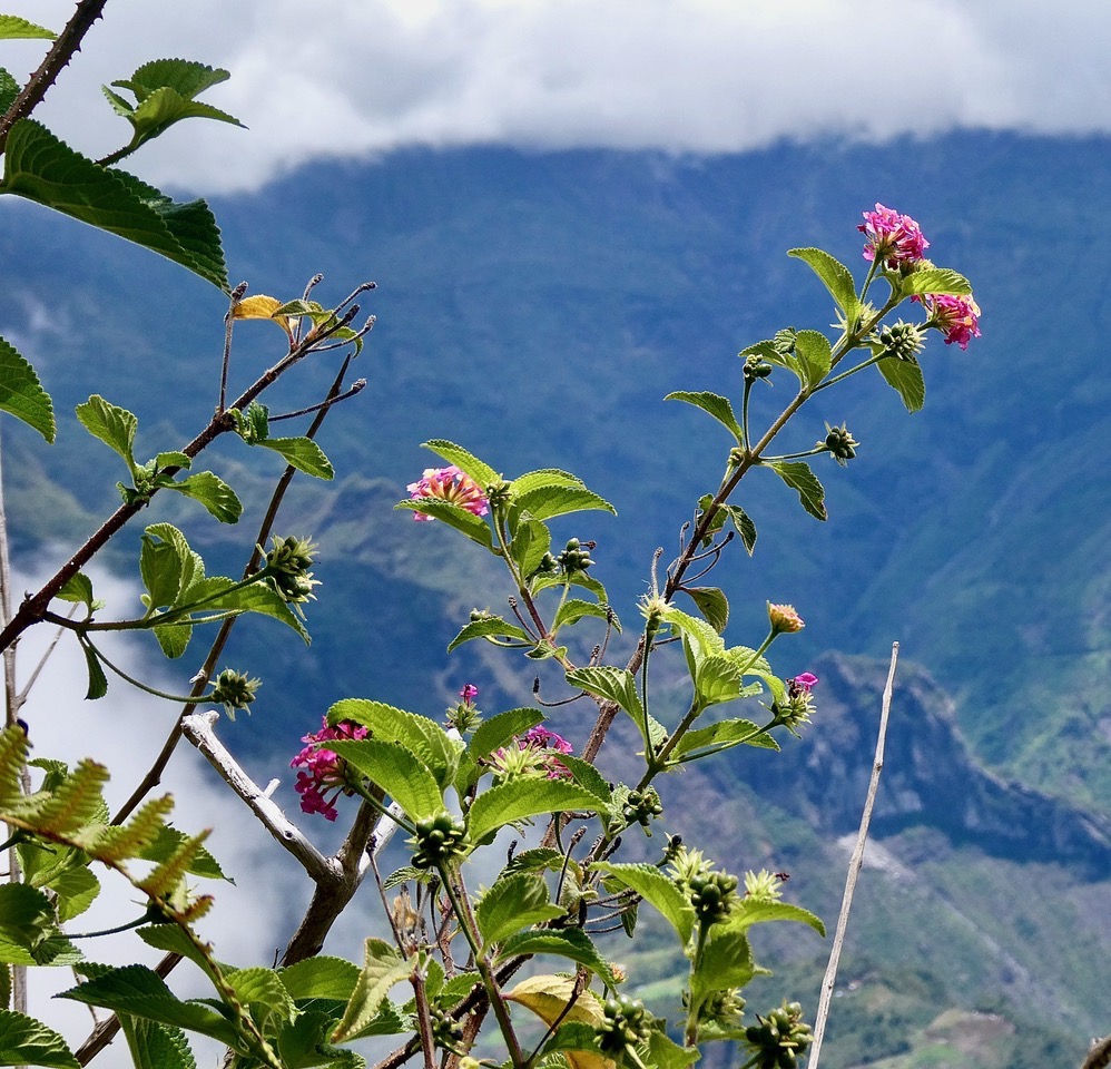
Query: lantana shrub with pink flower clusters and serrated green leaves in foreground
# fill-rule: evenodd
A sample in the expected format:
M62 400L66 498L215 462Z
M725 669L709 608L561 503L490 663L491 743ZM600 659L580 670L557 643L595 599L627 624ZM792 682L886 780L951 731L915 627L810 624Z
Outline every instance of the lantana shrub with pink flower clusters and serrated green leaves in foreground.
M427 1069L437 1063L682 1069L707 1045L722 1042L735 1046L734 1057L744 1067L792 1069L810 1045L810 1024L790 992L779 992L759 1011L747 1002L750 981L766 972L754 958L749 929L777 921L824 932L823 922L787 901L778 876L727 872L697 844L670 834L667 781L694 762L738 746L775 751L789 745L812 720L820 730L820 684L810 671L777 670L770 659L773 654L778 658L780 639L789 641L805 626L805 607L768 604L766 631L737 641L726 637L726 595L705 578L725 559L729 543L736 546L737 536L749 555L755 551L755 523L738 503L746 478L777 479L808 513L826 519L823 487L810 461L829 457L845 467L866 443L857 442L846 423L827 424L809 447L780 442L805 426L803 410L812 398L869 369L908 411L921 406L920 355L930 332L961 349L980 336L980 308L969 282L925 259L930 243L918 223L881 204L864 212L858 226L867 265L862 281L829 253L792 249L789 255L825 288L838 325L832 334L783 330L748 345L722 393L697 386L669 395L714 421L717 438L707 445L706 467L724 468L725 474L692 502L690 518L681 518L675 558L665 562L660 551L646 561L649 594L636 606L610 602L591 557L592 516L613 512L604 497L558 468L513 473L512 457L482 460L454 442L426 442L442 467L426 469L410 483L397 509L413 520L453 529L461 537L460 552L490 553L504 568L501 608L475 610L459 621L449 650L468 643L493 645L507 657L545 667L562 697L547 705L522 695L519 705L480 709L480 692L488 685L469 681L446 715L401 709L378 698L345 698L324 713L318 728L323 710L305 723L303 747L291 755L293 787L279 804L220 744L212 707L235 715L256 702L259 680L222 667L228 631L240 618L263 614L306 639L311 617L328 611L326 589L311 570L318 548L273 528L293 477L333 475L315 441L325 419L341 405L344 418L358 418L357 410L351 411L355 403L347 402L362 382L350 379L350 367L370 328L368 321L358 320L356 303L370 286L354 286L331 306L314 297L318 278L288 298L233 288L207 206L174 204L117 168L173 121L236 122L196 99L226 78L225 71L157 60L106 88L131 133L99 161L75 153L30 118L49 88L50 71L72 57L91 13L92 6L79 4L57 38L24 20L0 17L9 37L52 42L46 73L27 87L0 71L6 108L0 144L7 154L0 194L79 214L218 286L228 296L226 345L213 419L188 442L167 443L153 458L135 455L136 414L100 393L78 406L81 425L120 461L120 506L2 620L8 671L20 636L52 625L79 645L90 699L102 698L109 678L121 677L151 700L177 703L178 712L168 720L163 754L139 777L128 803L112 813L101 793L108 769L92 762L69 768L52 759L49 724L37 732L31 758L19 718L26 694L7 688L0 817L8 827L10 882L0 886L0 1063L86 1065L121 1031L134 1063L149 1069L191 1067L193 1034L225 1045L226 1063L237 1069L358 1066L363 1061L350 1045L370 1036L392 1037L394 1049L381 1062L383 1069L414 1058ZM80 212L79 204L86 205ZM852 226L846 220L847 234ZM901 308L907 321L893 318ZM236 394L232 343L245 321L278 326L273 336L281 349L272 366ZM272 413L260 398L309 355L333 361L332 386L296 411ZM0 409L52 441L52 402L30 363L0 341L0 364L9 384L0 393ZM773 380L780 388L774 395L766 390ZM109 391L108 382L104 389ZM781 409L771 406L773 396L784 395ZM276 425L286 425L279 420L299 421L292 424L299 433L276 434ZM798 433L805 440L815 432ZM210 520L240 520L244 508L233 488L195 467L223 435L238 439L244 449L260 449L255 455L281 458L273 497L257 529L243 540L240 577L209 576L184 531L154 522L137 532L141 612L106 606L86 567L110 537L135 526L157 494L183 494ZM560 545L550 523L572 516L582 534ZM413 537L422 532L414 530ZM7 576L3 565L0 573ZM9 597L4 591L4 604ZM622 619L637 622L629 628ZM171 660L181 658L198 635L210 636L190 693L163 694L127 676L101 648L106 630L150 631ZM658 660L666 660L669 677L684 676L681 707L659 696L649 670ZM593 714L593 728L579 752L562 734L569 703ZM435 705L435 695L429 695L427 705ZM618 717L628 719L638 739L638 762L629 782L611 783L594 759ZM286 945L276 963L229 964L196 932L196 921L218 901L194 883L218 879L222 870L205 849L205 833L171 826L173 801L155 793L180 739L224 776L228 818L239 818L236 811L246 806L244 812L266 825L314 885L296 931L282 935ZM189 800L183 801L188 821ZM293 808L295 802L303 823L285 814L284 806ZM346 822L334 854L314 844L317 817ZM499 833L529 826L528 849L507 853ZM382 849L395 833L406 861L383 872ZM622 860L628 856L622 844L641 836L658 844L655 863ZM646 850L641 842L638 851ZM485 886L479 884L479 871ZM142 905L138 920L124 926L127 931L99 938L138 939L157 948L166 954L160 969L107 967L98 963L107 955L96 939L80 947L70 940L70 925L88 908L101 877L122 881ZM322 955L325 936L348 906L361 915L381 908L390 938L367 934L346 957ZM610 944L600 941L613 931L636 940L649 913L687 962L681 994L666 1018L638 998L646 978L609 960ZM165 978L179 964L207 979L207 999L184 1000L173 992ZM63 998L112 1014L77 1050L39 1019L47 1009L27 1000L26 971L58 965L76 973Z

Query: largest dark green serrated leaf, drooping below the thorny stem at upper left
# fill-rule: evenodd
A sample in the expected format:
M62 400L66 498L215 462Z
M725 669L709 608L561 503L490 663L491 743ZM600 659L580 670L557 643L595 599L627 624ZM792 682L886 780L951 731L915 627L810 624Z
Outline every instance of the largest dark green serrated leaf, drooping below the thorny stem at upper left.
M0 193L117 234L228 292L219 228L203 200L176 204L138 178L73 151L33 119L20 119L8 135Z

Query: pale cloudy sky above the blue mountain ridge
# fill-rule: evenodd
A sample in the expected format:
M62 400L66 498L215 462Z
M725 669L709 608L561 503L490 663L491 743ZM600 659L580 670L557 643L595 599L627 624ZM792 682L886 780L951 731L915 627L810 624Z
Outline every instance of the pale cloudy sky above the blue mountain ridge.
M6 10L58 29L72 3ZM110 0L40 116L104 155L128 130L101 82L169 56L225 67L206 99L249 131L190 121L128 165L210 193L412 145L1107 131L1109 41L1101 0ZM0 51L23 77L41 43Z

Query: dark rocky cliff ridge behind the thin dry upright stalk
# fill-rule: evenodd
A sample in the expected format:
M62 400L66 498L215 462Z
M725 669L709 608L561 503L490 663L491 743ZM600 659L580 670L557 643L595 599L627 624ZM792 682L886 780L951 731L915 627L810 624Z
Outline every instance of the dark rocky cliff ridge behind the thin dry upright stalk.
M735 751L731 772L813 827L839 835L859 823L886 666L826 655L814 670L817 713L803 741L771 759ZM923 669L901 664L872 832L882 837L913 825L1000 857L1055 861L1089 879L1111 874L1111 821L977 765L951 699Z

